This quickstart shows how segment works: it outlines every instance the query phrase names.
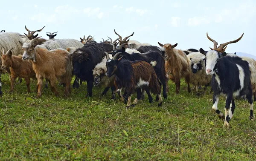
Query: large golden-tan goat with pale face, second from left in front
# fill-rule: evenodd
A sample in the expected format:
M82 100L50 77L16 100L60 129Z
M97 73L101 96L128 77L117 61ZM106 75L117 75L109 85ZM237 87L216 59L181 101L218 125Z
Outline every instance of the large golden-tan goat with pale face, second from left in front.
M65 49L47 50L44 46L37 45L38 38L32 40L26 40L25 43L19 41L23 48L23 60L35 60L32 61L33 70L36 73L38 79L37 98L42 95L43 78L49 80L51 90L56 96L59 95L56 90L56 81L65 84L64 96L70 96L70 81L72 77L72 63L71 55ZM58 63L56 63L58 62Z

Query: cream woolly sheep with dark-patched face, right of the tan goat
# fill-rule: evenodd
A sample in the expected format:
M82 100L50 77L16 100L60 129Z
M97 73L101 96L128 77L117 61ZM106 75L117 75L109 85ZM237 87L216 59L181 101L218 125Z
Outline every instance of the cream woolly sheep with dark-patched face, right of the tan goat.
M210 85L212 80L212 75L207 75L205 72L205 56L200 52L192 52L187 57L190 59L190 83L195 86L196 92L198 92L198 86L204 86L205 94L207 86Z

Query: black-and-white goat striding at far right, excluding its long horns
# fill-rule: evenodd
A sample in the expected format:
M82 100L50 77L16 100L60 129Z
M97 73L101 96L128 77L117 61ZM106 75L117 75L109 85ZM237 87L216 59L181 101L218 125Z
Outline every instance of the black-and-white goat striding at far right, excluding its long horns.
M200 52L205 55L206 73L212 75L213 106L212 109L219 118L225 118L224 126L229 127L229 121L235 110L234 98L246 96L250 103L250 120L253 120L253 90L250 81L249 63L238 56L229 56L226 52L216 50ZM227 56L226 56L227 55ZM225 117L218 110L220 95L226 96Z

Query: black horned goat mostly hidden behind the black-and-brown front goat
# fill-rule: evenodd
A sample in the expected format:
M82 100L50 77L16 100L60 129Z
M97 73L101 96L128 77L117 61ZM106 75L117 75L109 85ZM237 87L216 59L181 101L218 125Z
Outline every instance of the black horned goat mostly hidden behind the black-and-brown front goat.
M166 77L166 70L165 70L165 60L163 58L163 56L161 55L161 51L158 49L158 51L148 51L145 53L140 53L140 52L131 52L130 54L128 52L125 52L125 46L127 44L122 44L121 46L119 46L119 49L114 51L112 53L112 56L114 56L116 53L121 52L123 59L127 59L130 61L135 61L135 60L142 60L145 62L152 62L152 61L156 61L157 64L154 67L154 70L157 74L157 78L160 80L159 83L163 84L163 97L165 99L167 99L167 92L166 92L166 86L167 86L167 81L168 78ZM158 101L158 96L156 101Z

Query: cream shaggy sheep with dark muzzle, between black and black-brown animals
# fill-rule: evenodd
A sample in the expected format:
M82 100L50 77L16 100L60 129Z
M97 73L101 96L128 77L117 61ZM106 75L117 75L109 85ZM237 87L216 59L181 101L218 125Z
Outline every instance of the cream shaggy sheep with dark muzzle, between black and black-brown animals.
M108 54L108 53L105 52L105 54ZM108 54L108 55L109 55L109 58L112 59L112 55L111 54ZM97 64L95 66L95 68L93 69L93 77L94 77L93 85L105 87L104 91L102 92L102 96L106 95L109 88L111 88L111 90L112 90L112 98L111 99L115 99L115 95L116 95L116 87L114 85L115 76L113 75L113 76L111 76L111 78L107 77L106 63L107 63L107 58L103 57L102 61L99 64Z

